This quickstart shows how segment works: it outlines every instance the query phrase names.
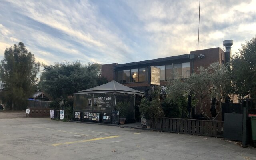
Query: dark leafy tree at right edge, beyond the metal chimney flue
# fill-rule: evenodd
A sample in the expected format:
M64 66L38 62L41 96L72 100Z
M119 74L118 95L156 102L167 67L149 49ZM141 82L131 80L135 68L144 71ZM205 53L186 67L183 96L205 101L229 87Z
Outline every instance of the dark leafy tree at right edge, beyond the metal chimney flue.
M232 58L232 84L242 98L256 98L256 36L242 44Z

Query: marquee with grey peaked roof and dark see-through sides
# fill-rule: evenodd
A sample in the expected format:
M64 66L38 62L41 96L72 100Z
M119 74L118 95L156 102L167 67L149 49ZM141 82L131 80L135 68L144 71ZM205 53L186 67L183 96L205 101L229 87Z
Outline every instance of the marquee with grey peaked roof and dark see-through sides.
M144 96L144 92L134 90L113 80L94 88L74 92L73 116L75 120L81 120L82 117L82 120L90 121L87 114L94 113L98 114L94 120L103 122L105 120L104 115L111 114L116 110L116 103L127 102L126 121L135 122L136 97L142 96ZM80 114L78 117L76 114L79 112L82 112L82 115Z

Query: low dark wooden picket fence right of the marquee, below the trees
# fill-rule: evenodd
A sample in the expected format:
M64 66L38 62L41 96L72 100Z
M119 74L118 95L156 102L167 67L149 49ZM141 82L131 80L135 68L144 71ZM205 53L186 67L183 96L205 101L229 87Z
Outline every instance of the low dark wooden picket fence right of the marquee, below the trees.
M152 129L164 132L223 137L224 121L160 118L152 122Z

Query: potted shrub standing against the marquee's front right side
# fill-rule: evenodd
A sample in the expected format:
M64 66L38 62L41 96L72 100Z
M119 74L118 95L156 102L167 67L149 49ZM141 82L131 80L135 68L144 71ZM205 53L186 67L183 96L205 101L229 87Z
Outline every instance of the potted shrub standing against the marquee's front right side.
M129 102L118 102L116 104L116 110L119 111L119 122L122 125L125 123L129 107L130 107Z

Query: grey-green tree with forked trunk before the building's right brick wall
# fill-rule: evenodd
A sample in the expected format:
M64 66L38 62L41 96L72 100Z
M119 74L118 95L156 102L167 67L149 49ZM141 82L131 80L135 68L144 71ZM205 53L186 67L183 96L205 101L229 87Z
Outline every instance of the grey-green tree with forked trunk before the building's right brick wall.
M210 64L207 68L200 66L198 72L193 73L186 80L190 90L200 97L201 113L208 119L210 118L206 114L207 110L203 110L203 100L206 97L223 100L232 92L229 68L228 64L225 66L218 62ZM221 108L222 106L214 120L220 114Z

